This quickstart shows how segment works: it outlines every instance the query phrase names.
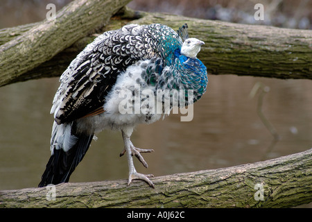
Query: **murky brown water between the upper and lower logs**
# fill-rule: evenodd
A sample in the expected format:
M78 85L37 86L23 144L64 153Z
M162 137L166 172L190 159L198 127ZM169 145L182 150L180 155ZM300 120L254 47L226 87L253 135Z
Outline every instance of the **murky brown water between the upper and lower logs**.
M280 140L257 114L256 83L270 87L263 97L263 114ZM44 78L0 88L0 190L37 187L49 160L53 117L51 101L58 78ZM217 169L268 160L312 147L312 81L241 76L209 76L207 93L194 104L193 120L172 114L150 125L138 126L132 142L144 153L148 169L135 160L140 173L155 176ZM128 177L128 163L119 157L121 133L103 131L92 142L71 182Z

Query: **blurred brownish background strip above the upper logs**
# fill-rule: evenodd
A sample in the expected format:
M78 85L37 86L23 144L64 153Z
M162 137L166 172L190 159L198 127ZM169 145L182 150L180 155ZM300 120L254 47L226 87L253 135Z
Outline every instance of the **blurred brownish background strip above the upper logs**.
M71 0L0 0L0 28L39 22L46 17L46 4L60 10ZM264 6L263 21L254 19L254 5ZM167 12L201 19L284 28L312 28L311 0L133 0L128 6L148 12Z

